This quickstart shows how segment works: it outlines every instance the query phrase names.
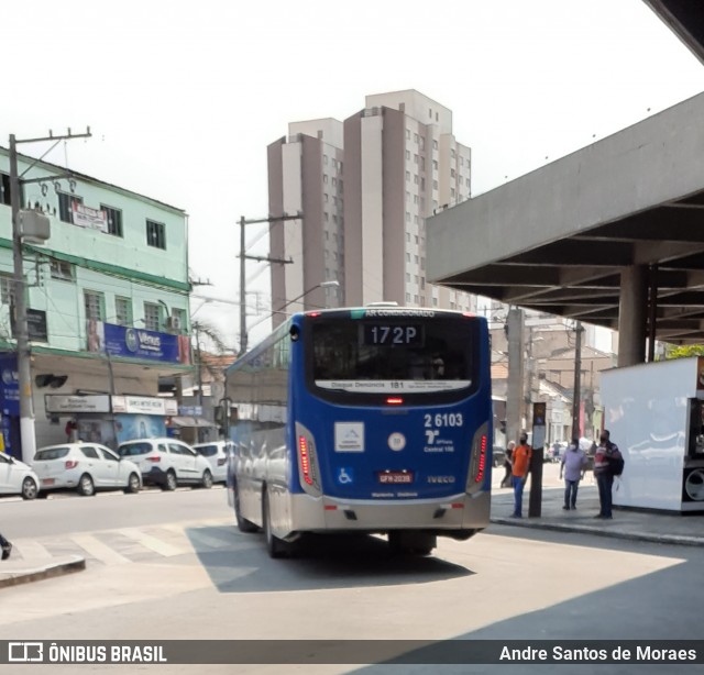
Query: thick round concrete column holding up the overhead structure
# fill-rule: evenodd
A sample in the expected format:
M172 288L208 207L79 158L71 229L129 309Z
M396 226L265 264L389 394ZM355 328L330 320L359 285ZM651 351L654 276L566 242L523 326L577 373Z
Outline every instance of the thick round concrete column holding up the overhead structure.
M618 366L646 361L646 318L648 316L648 267L634 265L620 273L618 305Z

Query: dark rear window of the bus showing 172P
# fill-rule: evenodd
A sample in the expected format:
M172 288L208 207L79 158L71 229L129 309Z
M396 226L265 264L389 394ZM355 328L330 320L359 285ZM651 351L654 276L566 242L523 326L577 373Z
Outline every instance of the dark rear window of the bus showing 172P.
M475 324L464 317L311 320L315 387L358 394L457 391L475 377Z

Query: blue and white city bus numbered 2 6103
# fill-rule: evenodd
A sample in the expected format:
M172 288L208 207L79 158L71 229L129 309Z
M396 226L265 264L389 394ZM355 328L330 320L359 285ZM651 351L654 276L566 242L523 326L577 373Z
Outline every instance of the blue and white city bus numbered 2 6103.
M301 534L388 535L428 554L488 525L486 320L396 306L289 318L227 372L230 504L272 557Z

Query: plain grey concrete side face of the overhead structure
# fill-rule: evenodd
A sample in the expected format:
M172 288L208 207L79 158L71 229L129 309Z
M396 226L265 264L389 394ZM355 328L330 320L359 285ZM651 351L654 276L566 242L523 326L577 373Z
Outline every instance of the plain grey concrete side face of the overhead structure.
M428 280L440 283L701 191L702 119L704 93L430 218Z

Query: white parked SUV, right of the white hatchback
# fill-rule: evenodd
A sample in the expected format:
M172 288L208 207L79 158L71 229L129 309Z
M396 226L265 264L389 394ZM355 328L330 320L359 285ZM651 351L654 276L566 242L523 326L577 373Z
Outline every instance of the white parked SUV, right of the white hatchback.
M178 485L212 487L212 469L208 461L190 445L176 439L136 439L120 443L120 456L134 462L144 484L175 490Z

